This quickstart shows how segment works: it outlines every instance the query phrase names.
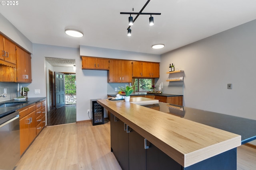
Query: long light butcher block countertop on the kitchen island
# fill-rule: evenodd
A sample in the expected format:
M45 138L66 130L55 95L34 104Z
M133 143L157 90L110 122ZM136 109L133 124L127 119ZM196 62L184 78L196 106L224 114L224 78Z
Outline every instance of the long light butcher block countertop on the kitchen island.
M130 102L98 103L183 167L241 145L241 136ZM147 98L147 100L151 100Z

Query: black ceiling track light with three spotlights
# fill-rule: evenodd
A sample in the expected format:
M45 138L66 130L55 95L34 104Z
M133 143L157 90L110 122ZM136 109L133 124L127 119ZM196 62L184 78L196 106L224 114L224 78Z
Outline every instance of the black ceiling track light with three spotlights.
M130 27L133 25L134 21L136 21L136 19L138 18L138 16L140 15L150 15L150 18L149 18L149 25L154 25L154 18L152 17L152 15L161 15L161 13L142 13L142 11L144 10L144 8L148 5L148 3L150 2L150 0L148 0L146 2L146 4L142 7L142 9L140 10L140 12L120 12L120 14L129 14L130 17L129 17L129 27L127 28L128 30L128 36L131 36L132 34L132 30L130 29ZM133 8L132 8L132 11L133 11ZM134 20L132 18L132 14L135 14L137 15Z

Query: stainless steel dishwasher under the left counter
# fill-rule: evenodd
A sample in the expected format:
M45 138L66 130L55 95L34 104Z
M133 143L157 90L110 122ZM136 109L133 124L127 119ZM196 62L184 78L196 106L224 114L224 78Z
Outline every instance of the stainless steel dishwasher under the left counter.
M20 160L19 111L0 118L0 169L13 170Z

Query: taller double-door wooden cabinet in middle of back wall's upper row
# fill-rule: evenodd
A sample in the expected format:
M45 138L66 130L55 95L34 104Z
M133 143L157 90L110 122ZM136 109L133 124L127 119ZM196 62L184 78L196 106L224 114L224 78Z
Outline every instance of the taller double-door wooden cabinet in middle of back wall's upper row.
M110 60L108 82L132 82L132 61Z

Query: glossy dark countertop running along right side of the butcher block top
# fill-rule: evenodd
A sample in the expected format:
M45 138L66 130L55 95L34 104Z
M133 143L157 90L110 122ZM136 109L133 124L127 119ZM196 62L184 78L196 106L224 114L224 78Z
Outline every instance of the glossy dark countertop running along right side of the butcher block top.
M146 105L146 107L158 106L160 111L164 113L170 113L172 115L183 117L184 119L241 135L241 145L256 139L256 120L193 109L190 107L170 105L163 102L154 105ZM180 107L180 109L177 107ZM200 129L198 129L198 131L200 131Z

